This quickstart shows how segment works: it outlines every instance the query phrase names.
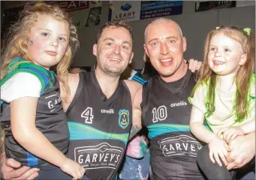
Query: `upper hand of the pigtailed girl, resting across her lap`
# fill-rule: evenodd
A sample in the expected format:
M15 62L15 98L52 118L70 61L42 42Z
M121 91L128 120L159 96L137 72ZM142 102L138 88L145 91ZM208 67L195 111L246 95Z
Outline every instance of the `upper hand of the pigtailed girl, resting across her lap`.
M226 143L229 143L230 140L234 140L237 136L242 135L244 135L244 132L242 131L242 128L240 128L239 126L221 128L221 130L218 131L218 137L222 136L223 140L225 140Z

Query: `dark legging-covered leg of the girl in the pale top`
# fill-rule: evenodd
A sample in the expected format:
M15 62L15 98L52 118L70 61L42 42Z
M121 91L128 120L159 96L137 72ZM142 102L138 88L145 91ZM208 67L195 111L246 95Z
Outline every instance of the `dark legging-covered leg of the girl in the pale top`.
M203 174L207 179L235 179L236 173L234 171L229 172L227 167L224 165L221 158L222 166L220 167L217 162L212 163L209 158L209 146L206 145L199 152L197 152L197 164L200 167L200 170L203 171Z

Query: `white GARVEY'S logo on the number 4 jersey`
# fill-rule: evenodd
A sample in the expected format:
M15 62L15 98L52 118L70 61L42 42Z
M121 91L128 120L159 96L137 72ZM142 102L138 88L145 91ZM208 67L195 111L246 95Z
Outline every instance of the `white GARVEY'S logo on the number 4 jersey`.
M75 160L85 170L98 168L118 167L122 158L123 149L117 146L110 146L108 143L101 143L98 146L83 146L74 149Z

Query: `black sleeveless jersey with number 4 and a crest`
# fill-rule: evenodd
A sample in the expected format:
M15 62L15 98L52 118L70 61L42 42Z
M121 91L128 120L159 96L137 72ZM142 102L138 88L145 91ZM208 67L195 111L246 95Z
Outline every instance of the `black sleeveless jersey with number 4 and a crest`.
M95 72L80 72L80 82L68 107L68 158L86 170L89 179L115 179L131 129L131 93L119 81L109 99Z

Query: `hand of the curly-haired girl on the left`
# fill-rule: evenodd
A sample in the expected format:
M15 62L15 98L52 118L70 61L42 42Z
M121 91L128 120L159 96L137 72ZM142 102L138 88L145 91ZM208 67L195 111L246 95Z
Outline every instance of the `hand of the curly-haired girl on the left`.
M82 179L84 173L86 171L78 164L76 161L73 161L69 158L65 159L65 163L60 167L60 169L64 172L73 176L73 179Z

